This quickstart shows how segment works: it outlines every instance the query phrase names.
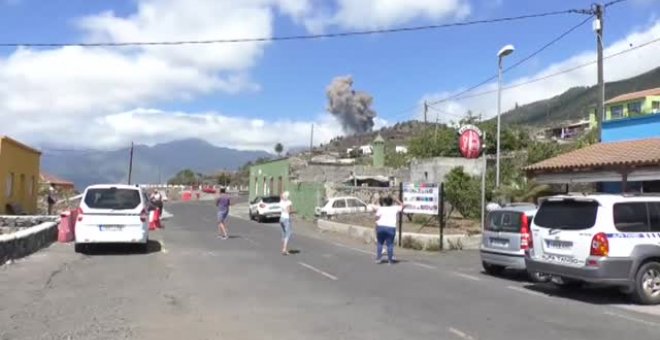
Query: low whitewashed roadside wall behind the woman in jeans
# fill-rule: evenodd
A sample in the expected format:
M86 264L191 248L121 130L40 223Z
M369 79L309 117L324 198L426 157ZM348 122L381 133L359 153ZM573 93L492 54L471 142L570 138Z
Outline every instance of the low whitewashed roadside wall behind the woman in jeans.
M327 220L318 220L317 226L324 231L331 231L347 235L351 238L361 240L365 243L376 243L376 235L373 228L357 226L352 224L345 224L339 222L331 222ZM418 233L403 233L403 241L418 244L423 250L437 249L438 248L438 235L418 234ZM397 234L395 242L398 243L399 235ZM481 235L468 236L465 234L459 235L444 235L445 250L468 250L479 249L481 244ZM420 250L422 250L420 249Z

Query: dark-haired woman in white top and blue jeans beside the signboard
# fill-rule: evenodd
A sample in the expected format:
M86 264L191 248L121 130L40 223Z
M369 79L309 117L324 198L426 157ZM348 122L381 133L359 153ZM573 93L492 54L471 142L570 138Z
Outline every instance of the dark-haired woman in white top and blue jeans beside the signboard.
M394 263L394 238L399 214L403 212L403 203L391 196L382 199L376 210L376 263L382 263L383 244L387 245L387 261Z

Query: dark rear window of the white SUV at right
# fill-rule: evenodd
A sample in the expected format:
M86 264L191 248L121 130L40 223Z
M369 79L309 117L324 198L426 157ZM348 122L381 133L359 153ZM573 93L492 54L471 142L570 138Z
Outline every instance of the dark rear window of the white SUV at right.
M582 230L593 227L597 215L598 202L595 201L546 201L534 217L534 224L544 228Z

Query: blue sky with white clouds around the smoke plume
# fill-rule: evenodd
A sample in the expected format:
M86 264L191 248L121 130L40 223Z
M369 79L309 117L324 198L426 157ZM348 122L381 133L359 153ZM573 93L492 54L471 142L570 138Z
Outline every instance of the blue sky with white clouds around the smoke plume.
M0 0L0 43L118 43L269 38L487 20L566 9L556 0ZM627 0L605 13L605 55L660 38L660 0ZM326 89L351 76L373 97L375 127L496 114L495 82L442 99L513 65L588 17L314 40L141 47L0 47L0 135L42 148L114 149L202 138L272 152L347 133ZM660 66L660 42L605 62L607 81ZM504 111L596 83L591 20L504 74Z

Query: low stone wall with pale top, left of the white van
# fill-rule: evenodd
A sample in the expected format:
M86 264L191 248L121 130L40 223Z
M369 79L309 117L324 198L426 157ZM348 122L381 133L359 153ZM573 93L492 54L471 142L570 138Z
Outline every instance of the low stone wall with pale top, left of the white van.
M0 265L28 256L57 240L58 222L44 222L34 227L0 235Z

